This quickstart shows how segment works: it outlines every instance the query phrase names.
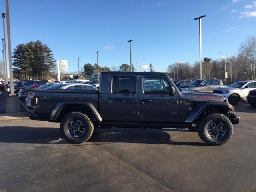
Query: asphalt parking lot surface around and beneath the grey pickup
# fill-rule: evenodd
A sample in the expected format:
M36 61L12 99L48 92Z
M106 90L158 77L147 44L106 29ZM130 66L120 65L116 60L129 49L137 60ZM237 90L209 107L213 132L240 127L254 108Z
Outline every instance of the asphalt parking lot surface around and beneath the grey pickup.
M69 144L58 123L0 120L0 192L256 191L256 108L235 110L223 146L172 128L98 129Z

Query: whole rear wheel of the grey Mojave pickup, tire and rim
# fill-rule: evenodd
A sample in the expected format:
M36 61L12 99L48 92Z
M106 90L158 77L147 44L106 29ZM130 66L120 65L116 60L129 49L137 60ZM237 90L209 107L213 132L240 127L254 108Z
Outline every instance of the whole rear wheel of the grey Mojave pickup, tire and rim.
M87 141L92 136L93 128L91 120L80 112L67 114L60 123L60 132L70 143Z

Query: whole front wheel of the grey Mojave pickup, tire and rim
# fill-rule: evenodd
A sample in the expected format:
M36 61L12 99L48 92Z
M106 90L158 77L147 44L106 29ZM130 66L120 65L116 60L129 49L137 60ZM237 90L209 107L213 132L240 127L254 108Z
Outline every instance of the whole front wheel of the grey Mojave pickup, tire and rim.
M223 114L209 114L198 124L199 137L209 145L222 145L230 140L233 134L233 126L230 120Z

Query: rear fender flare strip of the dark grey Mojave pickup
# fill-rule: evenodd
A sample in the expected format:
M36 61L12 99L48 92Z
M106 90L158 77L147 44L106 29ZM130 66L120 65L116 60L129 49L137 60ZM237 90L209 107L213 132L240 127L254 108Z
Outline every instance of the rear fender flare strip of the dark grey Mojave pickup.
M90 110L92 110L92 112L94 113L98 121L99 122L102 121L102 117L100 116L100 113L98 112L98 110L95 108L95 106L91 102L88 102L88 101L59 101L54 107L54 109L52 110L52 114L50 115L49 120L55 121L58 118L62 108L67 104L79 104L79 105L87 106L90 108Z

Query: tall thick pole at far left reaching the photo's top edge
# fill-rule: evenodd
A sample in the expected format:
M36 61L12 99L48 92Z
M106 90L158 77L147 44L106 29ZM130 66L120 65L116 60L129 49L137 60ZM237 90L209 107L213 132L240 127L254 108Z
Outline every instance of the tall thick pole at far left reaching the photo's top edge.
M9 70L10 70L10 88L11 88L10 95L14 95L13 75L12 75L12 47L11 47L11 32L10 32L9 0L5 0L5 6L6 6L7 38L8 38L8 59L9 59Z

